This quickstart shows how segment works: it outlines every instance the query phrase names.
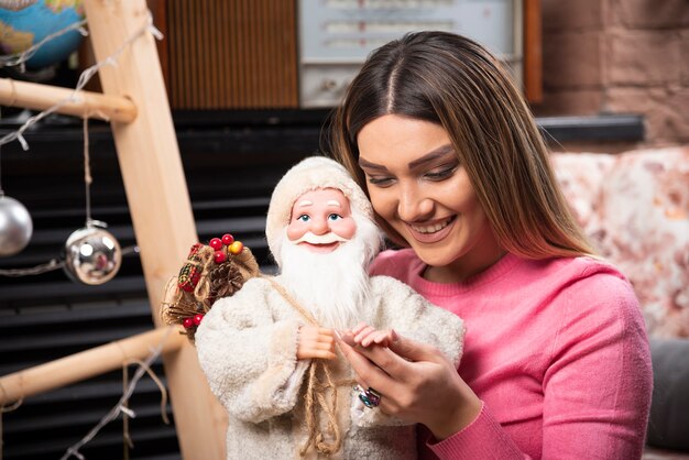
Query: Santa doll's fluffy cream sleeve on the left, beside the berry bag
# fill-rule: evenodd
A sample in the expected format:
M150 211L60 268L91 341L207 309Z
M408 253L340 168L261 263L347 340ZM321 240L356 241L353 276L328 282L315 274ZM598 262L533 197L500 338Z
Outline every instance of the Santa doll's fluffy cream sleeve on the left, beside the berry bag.
M261 280L214 305L196 332L199 363L228 413L260 423L291 410L307 362L297 361L300 322L281 314Z

